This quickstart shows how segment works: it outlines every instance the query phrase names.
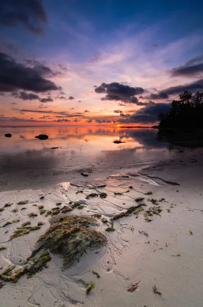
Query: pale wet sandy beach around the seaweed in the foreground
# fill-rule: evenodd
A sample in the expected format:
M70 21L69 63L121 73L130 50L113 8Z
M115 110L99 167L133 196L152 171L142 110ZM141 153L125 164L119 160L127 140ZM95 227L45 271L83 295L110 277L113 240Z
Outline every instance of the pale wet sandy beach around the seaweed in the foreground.
M0 274L9 265L20 268L34 250L36 240L49 228L50 216L39 214L37 206L40 205L50 210L58 202L64 206L70 201L85 200L83 209L76 208L66 214L101 214L95 229L106 236L107 243L98 250L88 251L68 269L61 269L59 254L51 254L48 268L32 278L21 276L16 283L3 281L1 305L200 307L203 299L203 150L181 154L181 158L138 172L83 181L75 179L38 190L2 192L1 207L5 203L12 205L1 212L1 226L8 221L19 222L1 228L0 245L6 249L0 251ZM103 187L97 188L98 185ZM85 198L90 193L102 192L107 194L104 199ZM148 192L152 193L146 194ZM112 217L139 203L135 201L137 198L144 198L144 211L119 218L114 221L115 231L105 231L111 226ZM26 205L17 205L25 200ZM37 206L33 206L35 204ZM22 207L26 209L21 210ZM146 210L150 212L149 208L153 207L161 209L159 215L152 213L146 218ZM32 212L37 216L28 217ZM101 218L108 223L104 224ZM46 224L9 240L14 230L27 221L32 226L38 222ZM92 280L96 287L87 295L85 290ZM135 282L139 282L138 289L127 291ZM161 295L152 291L154 284Z

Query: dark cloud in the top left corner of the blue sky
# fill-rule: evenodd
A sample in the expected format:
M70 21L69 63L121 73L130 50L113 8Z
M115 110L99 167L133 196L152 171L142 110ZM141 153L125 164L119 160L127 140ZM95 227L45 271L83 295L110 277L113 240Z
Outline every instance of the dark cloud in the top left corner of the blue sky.
M39 35L47 23L42 0L1 0L0 25L3 27L25 27Z

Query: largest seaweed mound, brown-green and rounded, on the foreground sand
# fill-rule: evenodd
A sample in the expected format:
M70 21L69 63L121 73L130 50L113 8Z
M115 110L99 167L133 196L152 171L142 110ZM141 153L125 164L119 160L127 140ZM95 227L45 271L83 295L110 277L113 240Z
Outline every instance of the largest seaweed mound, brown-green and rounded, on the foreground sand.
M89 229L97 225L92 216L58 215L51 218L51 227L37 241L37 247L62 254L63 267L70 267L74 260L87 249L98 248L106 243L103 233Z

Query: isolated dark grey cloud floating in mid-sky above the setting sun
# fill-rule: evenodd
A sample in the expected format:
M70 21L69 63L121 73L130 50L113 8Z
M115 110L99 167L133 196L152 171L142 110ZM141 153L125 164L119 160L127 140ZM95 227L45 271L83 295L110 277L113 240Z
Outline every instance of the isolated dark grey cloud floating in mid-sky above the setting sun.
M106 94L102 97L102 100L114 100L123 101L125 103L134 103L139 105L139 101L136 95L140 95L144 92L142 87L132 87L119 82L102 83L95 88L95 92L98 94ZM144 105L144 102L143 104Z

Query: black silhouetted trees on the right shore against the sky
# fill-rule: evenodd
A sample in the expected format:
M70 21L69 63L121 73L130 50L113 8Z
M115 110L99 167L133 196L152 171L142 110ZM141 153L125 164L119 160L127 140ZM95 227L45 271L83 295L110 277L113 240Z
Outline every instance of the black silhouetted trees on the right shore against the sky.
M185 91L173 100L168 113L160 114L160 127L203 128L203 92Z

